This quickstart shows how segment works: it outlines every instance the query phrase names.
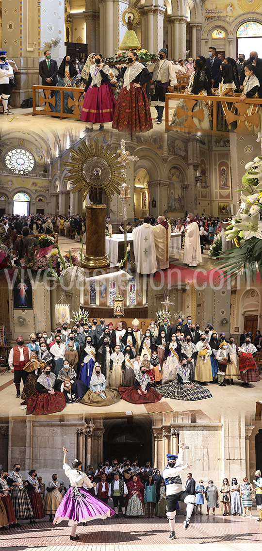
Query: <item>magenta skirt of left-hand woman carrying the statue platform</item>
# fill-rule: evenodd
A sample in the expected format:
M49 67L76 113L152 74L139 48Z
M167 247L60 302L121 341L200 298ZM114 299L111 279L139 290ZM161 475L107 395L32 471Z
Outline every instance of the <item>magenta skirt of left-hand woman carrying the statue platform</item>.
M115 111L115 98L109 84L89 86L84 96L80 119L84 122L111 122Z

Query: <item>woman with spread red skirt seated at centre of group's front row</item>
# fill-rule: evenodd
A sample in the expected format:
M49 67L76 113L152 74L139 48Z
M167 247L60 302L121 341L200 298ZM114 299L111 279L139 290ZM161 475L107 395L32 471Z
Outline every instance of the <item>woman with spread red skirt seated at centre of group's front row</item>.
M135 385L120 386L118 390L121 398L131 404L151 404L159 402L162 398L161 394L158 394L151 388L150 377L147 375L146 368L143 365L141 365L140 373L136 375Z

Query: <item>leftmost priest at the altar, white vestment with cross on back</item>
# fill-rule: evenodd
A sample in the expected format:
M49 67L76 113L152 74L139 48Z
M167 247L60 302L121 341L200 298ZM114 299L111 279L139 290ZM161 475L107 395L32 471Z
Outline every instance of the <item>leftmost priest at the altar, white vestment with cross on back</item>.
M132 231L133 252L135 254L136 271L140 274L154 274L157 271L156 247L154 246L154 230L149 224L149 217L144 218L142 226Z

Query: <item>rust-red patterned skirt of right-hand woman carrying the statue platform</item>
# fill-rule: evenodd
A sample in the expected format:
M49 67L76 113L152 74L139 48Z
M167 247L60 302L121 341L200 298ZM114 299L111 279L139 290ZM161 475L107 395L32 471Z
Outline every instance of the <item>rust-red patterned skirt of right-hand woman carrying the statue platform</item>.
M122 88L116 102L112 128L119 132L148 132L153 128L146 92L143 88Z

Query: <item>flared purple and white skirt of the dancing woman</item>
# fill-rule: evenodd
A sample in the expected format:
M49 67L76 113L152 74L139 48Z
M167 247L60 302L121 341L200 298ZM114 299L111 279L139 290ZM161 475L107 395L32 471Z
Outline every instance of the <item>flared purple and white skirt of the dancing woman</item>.
M106 518L115 515L108 505L95 498L85 488L69 488L63 497L54 518L54 524L68 520L72 526L76 522L88 522L95 518Z

